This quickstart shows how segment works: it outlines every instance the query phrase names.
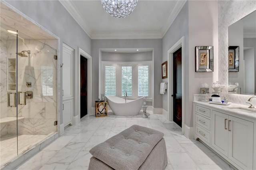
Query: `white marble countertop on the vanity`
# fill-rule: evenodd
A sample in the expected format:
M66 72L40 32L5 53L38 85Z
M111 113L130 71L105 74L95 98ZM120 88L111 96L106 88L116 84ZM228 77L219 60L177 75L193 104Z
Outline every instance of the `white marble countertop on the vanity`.
M193 101L194 103L198 103L200 105L205 105L211 109L218 109L220 111L228 112L234 115L240 115L247 118L256 120L256 109L250 109L247 105L239 105L236 103L231 103L230 105L216 105L211 104L209 102L202 102L202 101Z

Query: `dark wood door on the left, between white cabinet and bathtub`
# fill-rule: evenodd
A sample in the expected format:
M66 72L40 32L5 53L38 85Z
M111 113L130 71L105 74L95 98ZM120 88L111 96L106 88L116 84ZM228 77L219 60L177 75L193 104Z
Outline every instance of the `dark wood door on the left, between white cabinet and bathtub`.
M80 118L87 115L87 59L80 55Z

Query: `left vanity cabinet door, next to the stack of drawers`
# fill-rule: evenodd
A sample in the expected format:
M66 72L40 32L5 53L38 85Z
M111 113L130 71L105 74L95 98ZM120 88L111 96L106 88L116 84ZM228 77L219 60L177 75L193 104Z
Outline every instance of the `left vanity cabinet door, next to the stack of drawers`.
M228 156L228 115L212 111L212 146Z

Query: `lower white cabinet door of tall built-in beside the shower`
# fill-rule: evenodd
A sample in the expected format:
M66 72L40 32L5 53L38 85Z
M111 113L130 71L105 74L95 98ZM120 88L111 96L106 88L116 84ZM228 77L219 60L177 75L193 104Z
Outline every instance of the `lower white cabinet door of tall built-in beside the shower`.
M72 115L73 115L73 100L67 100L63 101L63 124L64 127L66 127L68 124L72 121Z

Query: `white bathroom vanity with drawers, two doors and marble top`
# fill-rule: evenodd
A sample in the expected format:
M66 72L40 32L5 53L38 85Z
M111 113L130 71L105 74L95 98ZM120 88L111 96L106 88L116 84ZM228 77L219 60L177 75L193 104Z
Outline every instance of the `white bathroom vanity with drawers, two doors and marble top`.
M194 138L238 169L256 169L256 109L193 102Z

